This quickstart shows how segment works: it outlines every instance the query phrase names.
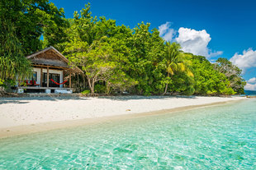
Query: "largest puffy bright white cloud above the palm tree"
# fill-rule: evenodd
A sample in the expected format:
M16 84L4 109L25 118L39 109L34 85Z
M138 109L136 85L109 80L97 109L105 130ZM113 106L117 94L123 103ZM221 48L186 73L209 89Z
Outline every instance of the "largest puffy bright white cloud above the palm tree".
M178 29L176 41L181 44L183 51L187 53L205 57L216 57L222 54L221 51L212 53L211 49L207 47L211 37L206 30L192 30L181 27Z

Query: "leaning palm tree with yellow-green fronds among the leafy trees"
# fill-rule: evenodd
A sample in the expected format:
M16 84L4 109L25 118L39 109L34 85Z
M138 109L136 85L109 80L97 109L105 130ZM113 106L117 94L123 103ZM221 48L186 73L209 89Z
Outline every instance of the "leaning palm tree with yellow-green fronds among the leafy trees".
M166 43L165 50L165 60L166 60L166 72L167 77L173 76L177 72L186 73L187 76L193 76L192 71L189 69L189 63L185 59L185 54L181 50L180 44L177 43ZM168 83L165 85L164 94L167 93ZM164 95L163 94L163 95Z

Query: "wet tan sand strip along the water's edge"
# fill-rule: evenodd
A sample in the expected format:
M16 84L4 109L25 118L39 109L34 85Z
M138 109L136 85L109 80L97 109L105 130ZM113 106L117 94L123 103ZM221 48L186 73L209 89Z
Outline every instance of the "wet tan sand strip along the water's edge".
M150 98L149 98L150 99ZM223 98L221 98L223 99ZM50 121L50 122L36 122L26 125L18 125L18 126L6 126L0 128L0 139L12 137L12 136L22 136L22 135L29 135L36 132L43 132L43 131L54 131L58 129L64 128L72 128L76 126L86 126L90 124L97 124L102 122L111 122L111 121L118 121L118 120L125 120L131 119L136 117L146 117L152 115L159 115L165 113L177 113L183 112L187 110L191 110L194 108L206 108L216 105L222 105L226 103L235 103L246 98L240 97L239 99L233 98L225 101L217 101L211 103L202 103L202 104L190 104L186 106L176 106L174 108L164 108L158 110L152 110L149 112L140 112L140 113L121 113L121 114L113 114L113 115L105 115L103 117L88 117L76 120L61 120L61 121ZM1 105L1 104L0 104ZM0 110L1 111L1 110Z

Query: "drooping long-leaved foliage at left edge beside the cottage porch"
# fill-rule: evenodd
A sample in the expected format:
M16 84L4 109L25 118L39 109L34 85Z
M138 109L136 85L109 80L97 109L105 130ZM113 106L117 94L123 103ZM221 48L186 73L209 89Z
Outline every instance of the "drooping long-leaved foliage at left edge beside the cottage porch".
M24 57L21 44L15 34L14 26L9 21L0 20L0 80L11 82L23 80L31 74L31 63Z

